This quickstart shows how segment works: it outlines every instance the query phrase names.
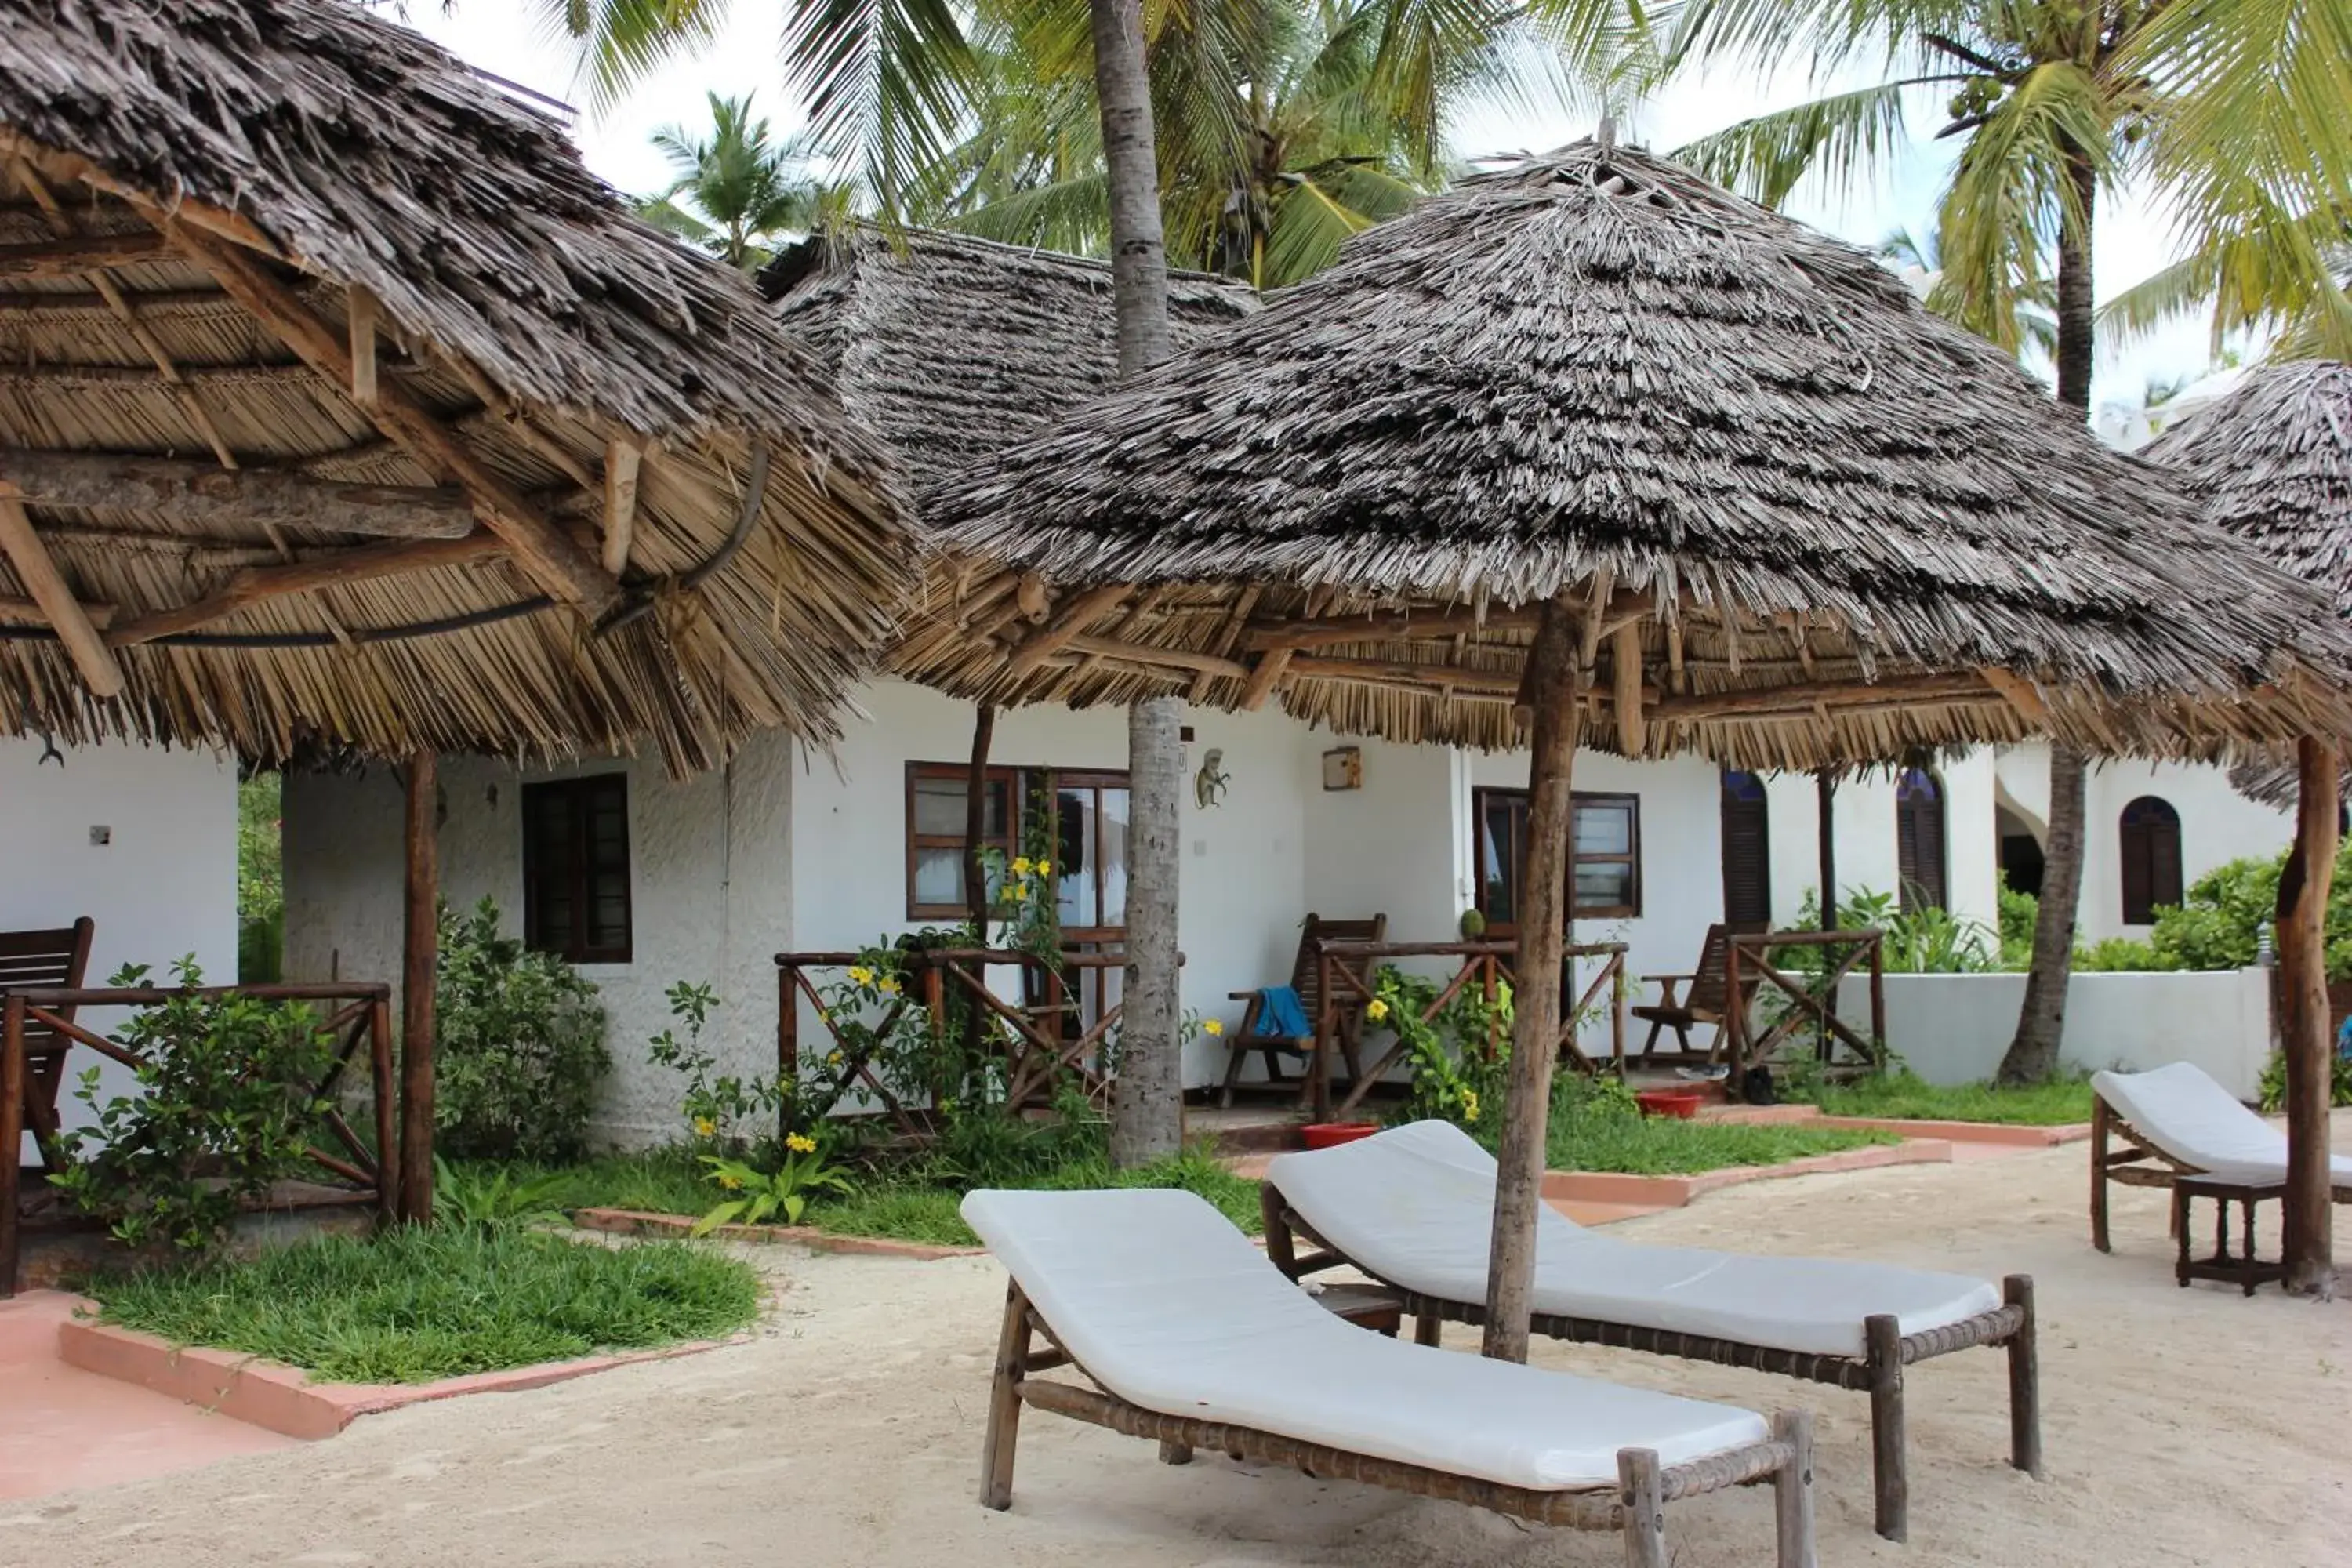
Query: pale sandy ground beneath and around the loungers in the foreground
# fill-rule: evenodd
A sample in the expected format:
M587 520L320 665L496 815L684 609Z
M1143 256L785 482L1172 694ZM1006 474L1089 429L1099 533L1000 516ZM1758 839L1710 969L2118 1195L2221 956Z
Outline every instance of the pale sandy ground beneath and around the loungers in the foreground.
M2352 1135L2352 1121L2340 1121ZM2352 1302L2171 1281L2157 1194L2091 1251L2082 1145L1757 1182L1625 1225L1653 1241L2032 1272L2049 1479L2004 1465L2002 1356L1912 1373L1912 1540L1870 1533L1863 1396L1656 1356L1538 1359L1820 1413L1820 1561L2352 1563ZM2343 1211L2338 1211L2343 1213ZM0 1505L0 1563L913 1563L1569 1568L1609 1535L1322 1483L1033 1413L1009 1514L974 1502L1002 1274L988 1260L762 1253L757 1342L534 1394L416 1406L202 1472ZM1449 1333L1463 1349L1470 1338ZM5 1418L5 1413L0 1413ZM1762 1490L1668 1509L1677 1568L1771 1561Z

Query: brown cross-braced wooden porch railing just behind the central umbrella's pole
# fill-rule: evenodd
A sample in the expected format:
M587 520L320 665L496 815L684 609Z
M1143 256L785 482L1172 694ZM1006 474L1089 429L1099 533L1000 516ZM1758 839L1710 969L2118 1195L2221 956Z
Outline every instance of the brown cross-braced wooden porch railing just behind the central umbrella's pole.
M1378 969L1392 959L1458 959L1454 976L1439 987L1437 999L1423 1009L1421 1023L1430 1023L1463 994L1465 987L1477 985L1479 994L1494 1004L1503 985L1512 985L1512 964L1519 959L1517 943L1357 943L1334 938L1317 943L1317 997L1322 1006L1315 1013L1315 1060L1308 1065L1308 1077L1312 1081L1310 1100L1317 1121L1331 1121L1334 1117L1348 1117L1371 1086L1388 1074L1399 1060L1404 1060L1406 1041L1399 1034L1397 1041L1381 1056L1381 1060L1369 1067L1359 1060L1359 1032L1364 1018L1364 1004L1371 1001L1376 990ZM1576 959L1599 959L1599 971L1578 992L1576 987ZM1625 943L1571 943L1562 947L1559 961L1559 997L1566 1001L1576 997L1573 1006L1562 1006L1559 1016L1559 1060L1571 1063L1583 1072L1597 1072L1599 1065L1585 1056L1583 1044L1576 1039L1578 1025L1585 1020L1588 1011L1597 999L1606 997L1609 1004L1609 1056L1625 1067ZM1517 990L1517 987L1515 987ZM1496 1041L1489 1041L1491 1051ZM1348 1063L1348 1098L1336 1107L1331 1105L1331 1058L1343 1056Z

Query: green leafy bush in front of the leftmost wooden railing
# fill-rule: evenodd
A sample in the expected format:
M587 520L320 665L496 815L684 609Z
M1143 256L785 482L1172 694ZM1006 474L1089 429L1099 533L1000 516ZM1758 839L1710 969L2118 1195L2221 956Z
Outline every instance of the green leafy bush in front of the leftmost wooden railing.
M327 1110L315 1088L334 1058L299 1004L195 994L205 971L193 954L172 978L183 990L120 1032L139 1056L139 1093L101 1100L99 1070L80 1074L73 1098L94 1126L59 1135L64 1168L49 1180L118 1241L205 1251L303 1166L306 1126ZM108 983L146 985L148 971L132 964Z

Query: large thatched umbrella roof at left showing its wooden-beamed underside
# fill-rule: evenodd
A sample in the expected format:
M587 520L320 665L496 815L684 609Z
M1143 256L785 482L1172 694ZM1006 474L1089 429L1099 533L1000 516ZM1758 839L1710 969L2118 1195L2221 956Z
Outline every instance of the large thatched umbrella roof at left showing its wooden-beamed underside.
M691 769L915 576L748 280L346 0L0 0L0 731Z

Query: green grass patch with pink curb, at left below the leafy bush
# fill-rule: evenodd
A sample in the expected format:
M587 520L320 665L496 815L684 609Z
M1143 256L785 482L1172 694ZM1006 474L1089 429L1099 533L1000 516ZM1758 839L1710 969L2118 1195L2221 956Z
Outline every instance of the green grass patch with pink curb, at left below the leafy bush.
M252 1260L101 1276L87 1293L101 1321L325 1382L430 1382L710 1340L760 1316L760 1276L717 1248L517 1227L318 1237Z

